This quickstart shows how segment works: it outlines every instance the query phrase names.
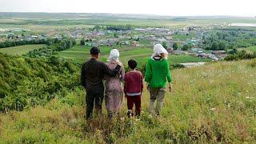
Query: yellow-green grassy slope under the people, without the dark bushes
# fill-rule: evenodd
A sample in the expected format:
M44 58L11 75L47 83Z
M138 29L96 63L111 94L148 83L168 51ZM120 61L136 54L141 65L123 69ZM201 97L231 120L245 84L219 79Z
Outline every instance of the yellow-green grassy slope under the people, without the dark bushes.
M58 92L45 106L0 115L0 142L160 143L256 142L256 59L173 70L162 116L149 118L149 93L142 94L140 121L84 119L84 91ZM106 110L103 110L106 115ZM132 122L131 124L128 124Z

